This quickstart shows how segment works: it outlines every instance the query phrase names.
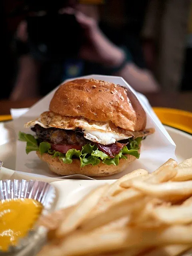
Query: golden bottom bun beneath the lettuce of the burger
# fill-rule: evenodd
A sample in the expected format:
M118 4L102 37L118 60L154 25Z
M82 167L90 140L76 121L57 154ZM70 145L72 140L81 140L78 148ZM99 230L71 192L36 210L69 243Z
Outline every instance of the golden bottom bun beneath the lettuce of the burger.
M97 164L96 166L89 164L84 167L80 167L80 160L78 159L73 159L71 164L64 164L58 157L52 158L52 155L48 153L44 153L42 155L38 151L36 153L42 161L48 164L48 167L52 172L62 176L71 174L83 174L90 177L110 176L124 171L130 162L136 160L135 156L126 154L125 156L127 156L127 160L120 159L118 166L113 164L107 165L100 162L100 164Z

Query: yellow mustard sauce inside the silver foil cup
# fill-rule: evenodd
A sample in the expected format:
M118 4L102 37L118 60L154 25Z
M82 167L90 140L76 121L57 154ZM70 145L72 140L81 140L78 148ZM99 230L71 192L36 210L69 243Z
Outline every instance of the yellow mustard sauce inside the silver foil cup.
M29 198L0 201L0 250L16 246L32 230L42 208L41 203Z

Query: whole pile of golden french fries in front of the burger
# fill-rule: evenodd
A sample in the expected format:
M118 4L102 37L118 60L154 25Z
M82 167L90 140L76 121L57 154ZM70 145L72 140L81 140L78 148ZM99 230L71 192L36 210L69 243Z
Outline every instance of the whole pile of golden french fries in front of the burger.
M192 248L192 158L134 170L40 224L49 232L38 256L182 255Z

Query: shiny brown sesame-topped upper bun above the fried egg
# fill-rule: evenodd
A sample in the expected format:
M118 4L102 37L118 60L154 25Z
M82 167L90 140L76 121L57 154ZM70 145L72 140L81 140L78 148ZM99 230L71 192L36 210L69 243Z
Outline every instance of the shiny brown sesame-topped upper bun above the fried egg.
M146 113L132 92L94 79L76 79L62 84L49 109L64 116L111 121L124 130L141 131L146 126Z

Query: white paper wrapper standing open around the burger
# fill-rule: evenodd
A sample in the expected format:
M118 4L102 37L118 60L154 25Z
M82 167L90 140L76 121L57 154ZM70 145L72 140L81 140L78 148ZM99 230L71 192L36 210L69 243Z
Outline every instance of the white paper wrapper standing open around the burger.
M131 172L137 168L143 168L148 170L149 172L153 172L156 168L166 162L169 158L173 158L176 160L175 156L175 148L172 138L166 132L164 126L157 118L156 114L152 110L148 100L142 94L136 92L123 78L117 76L100 76L100 75L90 75L84 76L81 78L94 78L98 80L105 80L108 82L113 82L115 84L120 84L122 86L128 87L138 98L140 103L142 104L144 110L147 114L147 124L146 128L155 128L156 132L146 138L146 140L142 141L141 154L140 158L134 162L132 162L126 171L115 174L109 177L102 177L100 179L116 179L120 178L124 174ZM72 79L71 79L72 80ZM57 89L57 88L56 88ZM37 118L42 112L47 111L49 109L50 100L52 99L54 92L53 90L47 96L42 98L39 102L37 102L28 112L24 115L16 118L14 120L14 127L16 133L19 131L27 132L33 134L30 129L24 128L24 124L30 120ZM45 162L42 162L38 156L36 156L36 152L30 152L30 154L25 153L26 143L17 142L16 145L16 170L21 172L30 172L34 174L40 174L43 176L56 177L47 167ZM65 178L73 178L73 176L67 176ZM77 178L84 178L83 176Z

